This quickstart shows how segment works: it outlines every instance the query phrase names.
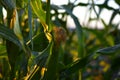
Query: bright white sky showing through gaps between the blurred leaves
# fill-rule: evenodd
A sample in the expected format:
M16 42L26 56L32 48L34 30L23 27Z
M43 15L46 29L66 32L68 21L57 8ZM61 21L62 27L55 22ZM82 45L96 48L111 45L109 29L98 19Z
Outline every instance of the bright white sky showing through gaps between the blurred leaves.
M89 0L64 0L62 2L59 1L59 0L51 0L51 4L55 4L55 5L59 5L59 6L60 5L67 5L69 2L74 3L75 5L77 5L79 3L84 3L85 4L85 3L88 3L88 2L92 4L92 0L90 0L90 1ZM94 3L98 4L98 5L103 4L104 2L105 2L105 0L94 0ZM107 5L111 8L119 9L119 4L117 4L115 2L115 0L109 0ZM79 21L82 25L88 25L89 17L97 18L96 12L99 13L100 8L98 6L95 6L96 12L94 12L94 10L89 11L90 7L91 7L90 5L88 5L88 6L76 6L73 9L73 14L78 17L78 19L79 19ZM54 13L54 11L51 11L51 12ZM101 19L104 19L106 24L109 24L109 21L110 21L110 18L112 16L113 12L114 12L113 10L103 8L99 17ZM58 16L61 17L61 15L58 15ZM113 23L116 24L119 21L120 21L120 15L117 14L115 16L115 18L113 19ZM72 18L70 16L68 16L67 26L69 26L71 28L75 28L74 21L72 20ZM91 26L91 28L99 28L99 29L104 28L104 25L102 24L102 22L100 20L91 21L89 23L89 26Z

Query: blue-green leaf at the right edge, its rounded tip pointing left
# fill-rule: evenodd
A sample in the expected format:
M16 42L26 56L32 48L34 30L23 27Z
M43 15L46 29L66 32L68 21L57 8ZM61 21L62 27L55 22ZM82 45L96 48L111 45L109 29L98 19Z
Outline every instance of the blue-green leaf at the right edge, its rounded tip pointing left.
M118 50L120 50L120 44L112 46L112 47L107 47L107 48L99 49L96 52L99 53L99 54L107 55L107 54L115 53Z

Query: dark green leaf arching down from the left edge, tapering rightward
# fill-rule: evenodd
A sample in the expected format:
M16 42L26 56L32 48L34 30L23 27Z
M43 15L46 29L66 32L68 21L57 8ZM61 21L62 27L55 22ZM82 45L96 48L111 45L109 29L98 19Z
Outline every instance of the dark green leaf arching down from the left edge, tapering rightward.
M20 44L17 36L14 34L14 32L2 24L0 24L0 35L3 38L13 42L14 44L16 44L17 46L19 46L21 48L21 44Z

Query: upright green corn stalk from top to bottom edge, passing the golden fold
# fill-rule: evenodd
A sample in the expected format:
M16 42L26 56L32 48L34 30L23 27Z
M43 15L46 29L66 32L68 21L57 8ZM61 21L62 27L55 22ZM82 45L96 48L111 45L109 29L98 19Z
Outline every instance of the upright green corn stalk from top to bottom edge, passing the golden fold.
M50 0L47 0L47 7L46 7L46 24L48 25L48 30L50 30ZM56 73L57 73L57 65L58 65L58 53L59 47L53 43L52 51L48 57L47 61L47 71L42 80L56 80Z

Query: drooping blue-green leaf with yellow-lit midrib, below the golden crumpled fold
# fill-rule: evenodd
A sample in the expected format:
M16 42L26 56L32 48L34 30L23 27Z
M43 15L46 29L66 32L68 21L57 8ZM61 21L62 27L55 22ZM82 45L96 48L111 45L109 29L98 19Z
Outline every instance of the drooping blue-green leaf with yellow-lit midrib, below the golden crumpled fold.
M46 64L48 62L48 57L49 57L50 52L51 52L51 46L52 46L52 42L49 43L47 48L45 48L41 52L38 52L38 54L34 56L34 59L32 60L32 62L35 62L37 64L37 67L33 69L33 71L28 75L26 80L35 79L36 74L38 74L38 71L40 69L42 69L42 67L46 66ZM37 77L40 77L40 76L37 76ZM41 75L41 77L43 77L43 75Z

